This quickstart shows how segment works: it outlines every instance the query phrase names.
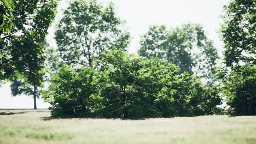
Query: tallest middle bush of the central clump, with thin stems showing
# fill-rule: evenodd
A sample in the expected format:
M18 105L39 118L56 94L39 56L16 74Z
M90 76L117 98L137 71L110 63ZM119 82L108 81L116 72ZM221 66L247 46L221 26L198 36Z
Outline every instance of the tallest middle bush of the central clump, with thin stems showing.
M101 61L101 97L104 117L161 117L158 110L166 89L165 79L173 81L178 67L160 59L144 60L122 51L109 52Z

